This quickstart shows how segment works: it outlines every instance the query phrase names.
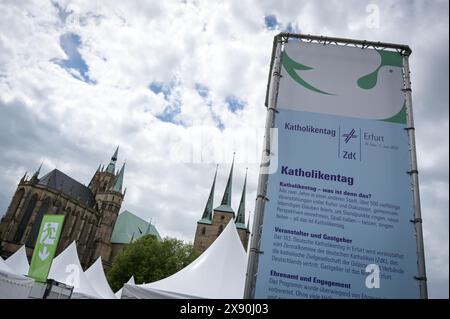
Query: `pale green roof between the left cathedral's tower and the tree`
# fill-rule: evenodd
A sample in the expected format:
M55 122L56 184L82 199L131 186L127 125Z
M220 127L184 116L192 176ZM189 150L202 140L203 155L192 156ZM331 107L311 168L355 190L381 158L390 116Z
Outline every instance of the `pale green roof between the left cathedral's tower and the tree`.
M129 244L130 242L149 234L154 235L158 240L161 240L161 236L155 226L125 210L117 217L111 236L111 243Z

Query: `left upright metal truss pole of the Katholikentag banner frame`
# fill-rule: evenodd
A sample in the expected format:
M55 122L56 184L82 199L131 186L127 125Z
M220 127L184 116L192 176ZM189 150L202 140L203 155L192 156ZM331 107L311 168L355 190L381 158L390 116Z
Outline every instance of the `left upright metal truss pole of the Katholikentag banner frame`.
M274 125L275 113L276 113L276 100L278 96L278 86L280 82L280 71L281 71L281 46L282 41L279 35L274 37L273 48L272 48L272 61L269 72L269 80L267 86L266 95L266 107L267 107L267 117L266 117L266 127L264 135L264 150L263 150L263 161L260 166L260 174L258 181L257 197L255 204L255 215L253 218L253 231L250 243L250 252L248 257L247 274L245 280L245 290L244 298L254 298L255 295L255 284L256 284L256 270L258 267L258 257L261 251L260 240L262 232L262 220L264 216L264 206L267 200L267 180L268 171L264 171L265 167L270 166L270 156L271 156L271 128ZM266 160L264 160L266 159Z

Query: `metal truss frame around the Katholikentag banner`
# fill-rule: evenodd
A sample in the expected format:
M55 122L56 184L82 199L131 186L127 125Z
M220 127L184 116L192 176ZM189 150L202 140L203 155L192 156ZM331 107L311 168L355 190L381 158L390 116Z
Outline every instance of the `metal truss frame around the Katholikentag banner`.
M412 51L409 46L393 43L383 43L383 42L373 42L365 40L354 40L345 38L335 38L335 37L324 37L315 35L304 35L304 34L293 34L293 33L279 33L274 37L272 46L272 57L270 61L270 70L267 81L267 90L265 105L267 108L266 117L266 127L264 136L264 147L263 147L263 159L268 159L268 161L262 161L261 169L268 167L270 165L271 153L271 134L270 131L275 123L275 116L277 111L277 98L279 83L281 77L281 53L284 43L287 43L289 39L298 39L300 41L320 43L323 45L333 44L342 46L355 46L361 49L372 48L372 49L391 49L395 50L403 56L403 77L404 77L404 88L403 92L405 94L406 101L406 112L407 112L407 127L405 128L408 133L409 146L410 146L410 160L411 160L411 170L407 173L411 176L412 192L413 192L413 204L414 204L414 219L411 220L415 225L416 230L416 245L417 245L417 259L418 259L418 276L415 277L419 281L420 297L428 298L427 292L427 282L426 282L426 269L425 269L425 251L423 244L423 232L422 232L422 217L420 210L420 195L419 195L419 180L418 180L418 169L417 169L417 157L416 157L416 143L415 143L415 133L414 133L414 121L412 115L412 97L411 97L411 81L410 81L410 70L408 57L411 55ZM254 298L255 286L257 278L258 269L258 259L259 255L264 253L260 250L261 244L261 234L262 234L262 221L264 217L265 203L269 199L266 197L267 194L267 181L268 174L259 174L257 197L255 204L255 215L253 219L252 228L252 238L250 243L249 259L247 265L247 276L245 282L244 298L250 299Z

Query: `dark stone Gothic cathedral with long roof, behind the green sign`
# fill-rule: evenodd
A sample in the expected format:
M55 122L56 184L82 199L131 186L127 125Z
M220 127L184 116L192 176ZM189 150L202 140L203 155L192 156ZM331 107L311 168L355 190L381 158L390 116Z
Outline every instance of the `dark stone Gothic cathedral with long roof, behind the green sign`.
M115 243L111 242L126 193L126 189L122 190L125 163L116 170L118 150L117 147L106 168L98 167L88 186L58 169L42 177L39 177L41 167L31 178L25 174L0 222L2 256L6 258L25 245L31 257L43 215L62 214L64 226L56 255L75 240L83 268L101 256L104 268L109 269L113 257L126 244L119 241L116 246L121 249L114 249ZM129 214L122 219L129 220ZM155 232L153 228L149 225L147 231ZM124 231L119 229L115 238L125 238L121 234Z

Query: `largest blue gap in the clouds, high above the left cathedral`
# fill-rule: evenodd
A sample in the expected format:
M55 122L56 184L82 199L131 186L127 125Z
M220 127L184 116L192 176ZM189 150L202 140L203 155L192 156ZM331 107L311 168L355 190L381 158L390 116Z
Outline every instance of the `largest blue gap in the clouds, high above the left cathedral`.
M59 37L59 44L66 53L67 59L53 59L52 62L68 71L74 78L95 84L95 81L89 78L89 67L78 50L81 46L80 36L75 33L65 33Z

